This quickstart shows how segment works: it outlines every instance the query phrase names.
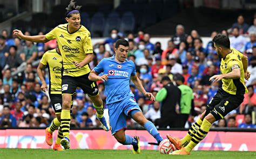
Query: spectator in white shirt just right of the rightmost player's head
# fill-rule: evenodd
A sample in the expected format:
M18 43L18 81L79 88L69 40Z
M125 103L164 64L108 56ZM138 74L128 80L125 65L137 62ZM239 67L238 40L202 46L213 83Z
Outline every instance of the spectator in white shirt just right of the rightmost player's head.
M244 52L245 44L246 44L246 38L244 38L243 36L240 36L238 27L234 27L233 37L230 38L231 47L233 47L234 49L237 49L240 52Z

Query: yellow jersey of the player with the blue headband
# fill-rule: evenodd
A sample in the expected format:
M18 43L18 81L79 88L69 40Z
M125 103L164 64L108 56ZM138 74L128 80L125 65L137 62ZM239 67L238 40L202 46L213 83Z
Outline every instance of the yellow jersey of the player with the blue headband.
M69 33L68 24L61 24L45 37L48 40L57 39L63 59L63 75L79 77L91 71L89 65L77 68L73 63L73 61L79 63L84 60L86 54L93 53L91 34L83 25L76 32Z

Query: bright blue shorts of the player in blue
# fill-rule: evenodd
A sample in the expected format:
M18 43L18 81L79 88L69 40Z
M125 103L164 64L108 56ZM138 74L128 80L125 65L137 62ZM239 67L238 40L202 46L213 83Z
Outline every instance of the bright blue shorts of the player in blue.
M131 110L136 109L137 111L142 112L136 100L132 97L108 104L107 108L109 109L112 135L120 130L126 129L126 116L130 115L129 112L131 112Z

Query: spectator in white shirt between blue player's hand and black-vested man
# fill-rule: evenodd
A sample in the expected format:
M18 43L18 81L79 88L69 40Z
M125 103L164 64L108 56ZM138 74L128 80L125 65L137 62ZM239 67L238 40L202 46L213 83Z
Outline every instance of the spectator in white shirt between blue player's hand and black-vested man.
M155 101L153 103L153 108L150 108L149 111L145 114L146 119L151 120L152 122L161 118L160 114L160 103Z

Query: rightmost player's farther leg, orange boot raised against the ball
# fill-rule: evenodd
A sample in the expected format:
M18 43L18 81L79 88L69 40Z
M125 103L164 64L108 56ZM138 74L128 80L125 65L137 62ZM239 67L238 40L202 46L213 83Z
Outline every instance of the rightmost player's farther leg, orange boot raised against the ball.
M191 126L191 128L188 130L187 134L183 137L183 139L172 137L171 135L167 134L167 138L173 143L173 145L177 149L181 149L182 147L187 146L187 144L190 142L192 137L197 133L200 126L203 123L204 117L207 116L211 110L214 108L215 105L218 105L218 103L221 100L222 93L218 91L218 93L213 97L213 99L210 101L210 103L207 105L207 108L204 113L202 113L199 117L199 119Z

